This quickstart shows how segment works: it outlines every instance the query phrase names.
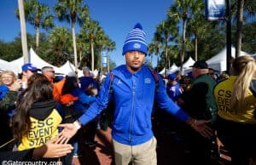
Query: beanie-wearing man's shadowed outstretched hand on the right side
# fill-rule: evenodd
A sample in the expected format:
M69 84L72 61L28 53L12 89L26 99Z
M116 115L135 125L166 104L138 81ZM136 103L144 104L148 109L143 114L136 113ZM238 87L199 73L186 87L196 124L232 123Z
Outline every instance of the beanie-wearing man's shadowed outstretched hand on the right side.
M211 122L211 120L195 120L195 122L191 123L190 126L203 137L211 139L213 136L213 130L207 126L207 123L209 122Z

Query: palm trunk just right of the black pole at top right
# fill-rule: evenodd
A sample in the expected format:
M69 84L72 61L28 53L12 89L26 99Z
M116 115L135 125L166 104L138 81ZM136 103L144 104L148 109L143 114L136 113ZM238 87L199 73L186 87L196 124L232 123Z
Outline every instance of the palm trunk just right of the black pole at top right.
M243 17L244 0L237 1L237 21L236 21L236 57L240 56L241 52L241 29Z

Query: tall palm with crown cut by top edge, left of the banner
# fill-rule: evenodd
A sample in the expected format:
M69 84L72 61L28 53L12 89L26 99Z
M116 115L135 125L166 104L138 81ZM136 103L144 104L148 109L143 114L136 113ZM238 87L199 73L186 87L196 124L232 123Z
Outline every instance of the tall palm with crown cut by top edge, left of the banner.
M193 13L201 10L203 2L201 0L176 0L175 3L168 10L168 16L171 20L182 20L183 24L183 37L180 50L180 71L183 71L183 60L185 53L186 43L186 30L187 21Z

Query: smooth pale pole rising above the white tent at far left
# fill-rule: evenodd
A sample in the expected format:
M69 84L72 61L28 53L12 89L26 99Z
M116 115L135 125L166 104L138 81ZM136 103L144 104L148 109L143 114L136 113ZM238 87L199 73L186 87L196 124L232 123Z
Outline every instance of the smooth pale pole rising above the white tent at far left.
M24 14L24 6L23 0L18 0L19 4L19 14L20 14L20 31L21 31L21 44L22 44L22 52L24 57L24 63L29 62L28 52L27 52L27 42L26 42L26 24L25 24L25 14Z

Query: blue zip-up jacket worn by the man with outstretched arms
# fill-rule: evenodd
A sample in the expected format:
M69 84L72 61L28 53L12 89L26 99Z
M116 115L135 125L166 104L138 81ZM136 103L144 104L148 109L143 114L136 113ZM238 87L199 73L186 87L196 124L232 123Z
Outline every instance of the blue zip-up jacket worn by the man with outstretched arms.
M136 73L127 70L126 65L120 65L112 71L113 74L113 129L112 137L125 145L140 145L152 139L151 113L154 99L161 109L172 113L185 122L185 114L166 94L166 87L159 76L159 92L155 91L154 76L146 65ZM79 117L84 125L107 108L109 100L110 78L106 77L102 89L90 108Z

